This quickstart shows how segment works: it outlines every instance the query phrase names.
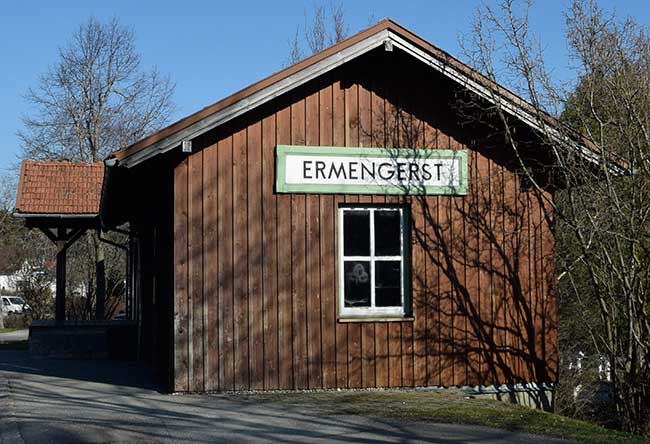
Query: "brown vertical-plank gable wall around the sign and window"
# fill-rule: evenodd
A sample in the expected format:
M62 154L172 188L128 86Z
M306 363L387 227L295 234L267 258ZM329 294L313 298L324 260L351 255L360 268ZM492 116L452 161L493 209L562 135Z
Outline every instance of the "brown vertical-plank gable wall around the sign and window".
M194 141L174 169L173 390L556 380L544 200L454 97L378 50ZM276 194L276 144L468 149L470 192ZM337 321L337 206L359 202L410 204L414 321Z

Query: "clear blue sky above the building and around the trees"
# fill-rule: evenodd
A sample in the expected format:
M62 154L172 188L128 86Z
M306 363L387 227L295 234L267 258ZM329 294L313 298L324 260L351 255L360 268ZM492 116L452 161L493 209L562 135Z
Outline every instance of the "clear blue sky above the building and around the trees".
M488 0L485 0L490 3ZM344 1L354 33L390 17L455 56L478 0ZM282 68L288 40L304 25L307 1L25 1L5 0L0 12L0 173L20 154L16 131L30 113L23 95L57 60L81 22L111 17L136 34L143 67L156 65L176 82L176 120ZM569 0L537 0L531 14L547 59L559 78L570 80L563 11ZM650 24L647 0L603 0L605 9ZM461 57L462 58L462 57Z

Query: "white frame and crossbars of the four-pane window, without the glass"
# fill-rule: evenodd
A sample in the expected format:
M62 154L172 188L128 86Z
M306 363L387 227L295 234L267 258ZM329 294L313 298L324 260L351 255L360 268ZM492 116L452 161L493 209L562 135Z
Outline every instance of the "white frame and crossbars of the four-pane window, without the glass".
M346 211L368 211L370 212L370 255L369 256L345 256L344 240L345 229L343 225L343 215ZM375 255L375 217L377 211L399 211L400 214L400 255L399 256L376 256ZM410 276L410 262L407 257L408 245L408 219L407 208L403 205L381 205L381 206L363 206L363 205L341 205L338 208L338 285L339 285L339 318L403 318L407 315L407 304L409 303L409 286L408 279ZM369 261L372 282L370 284L370 307L346 307L345 306L345 261ZM401 274L401 306L399 307L376 307L375 306L375 262L376 261L400 261Z

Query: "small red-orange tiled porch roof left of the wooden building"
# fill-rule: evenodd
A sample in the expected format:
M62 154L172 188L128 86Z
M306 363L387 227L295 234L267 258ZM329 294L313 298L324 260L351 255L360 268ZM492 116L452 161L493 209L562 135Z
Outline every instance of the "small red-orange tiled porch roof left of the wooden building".
M95 216L104 164L25 160L16 195L17 216Z

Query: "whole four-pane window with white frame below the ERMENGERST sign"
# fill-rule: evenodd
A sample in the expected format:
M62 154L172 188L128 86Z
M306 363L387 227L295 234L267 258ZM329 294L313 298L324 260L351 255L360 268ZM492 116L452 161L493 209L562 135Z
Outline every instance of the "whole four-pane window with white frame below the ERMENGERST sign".
M407 209L339 207L339 316L409 314Z

